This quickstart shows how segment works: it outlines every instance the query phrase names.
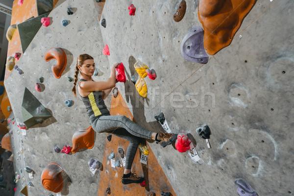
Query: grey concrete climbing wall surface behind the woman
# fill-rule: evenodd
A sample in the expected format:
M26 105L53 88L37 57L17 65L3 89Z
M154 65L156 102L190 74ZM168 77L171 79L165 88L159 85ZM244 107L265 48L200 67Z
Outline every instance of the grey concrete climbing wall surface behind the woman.
M149 143L176 195L237 195L234 181L240 178L260 196L294 193L293 1L258 0L231 44L209 55L205 65L184 60L180 52L187 31L201 26L198 0L187 0L186 14L179 23L172 17L180 1L106 1L101 15L106 28L99 25L95 3L59 0L49 15L52 24L40 28L18 63L24 74L13 71L4 82L16 121L22 121L25 87L53 115L26 130L27 136L14 133L22 137L25 165L35 171L31 195L49 195L40 182L49 162L58 163L68 176L62 195L98 193L99 173L92 177L87 161L91 156L102 160L104 134L96 137L93 149L72 155L53 151L55 145L71 146L73 132L89 126L82 102L71 93L73 83L67 81L68 76L73 77L80 53L95 57L101 73L95 80L106 80L109 66L123 62L127 81L117 86L124 107L137 123L163 131L154 119L162 111L172 132L186 131L195 139L201 158L196 163L172 146ZM128 15L131 3L137 8L134 16ZM66 14L68 6L77 8L73 15ZM63 19L70 24L63 27ZM108 57L101 53L105 44L110 49ZM54 62L44 60L51 47L67 53L68 64L60 79L51 72ZM145 79L147 98L140 97L130 81L137 59L157 73L155 80ZM44 92L34 90L40 76L45 78ZM74 101L70 108L64 104L68 98ZM211 128L211 148L196 133L196 127L204 123Z

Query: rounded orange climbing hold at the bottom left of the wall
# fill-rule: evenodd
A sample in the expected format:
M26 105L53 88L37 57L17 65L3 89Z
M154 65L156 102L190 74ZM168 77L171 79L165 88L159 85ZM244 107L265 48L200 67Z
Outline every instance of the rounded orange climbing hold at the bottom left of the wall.
M49 163L41 174L42 184L48 191L58 193L63 188L63 169L56 163Z

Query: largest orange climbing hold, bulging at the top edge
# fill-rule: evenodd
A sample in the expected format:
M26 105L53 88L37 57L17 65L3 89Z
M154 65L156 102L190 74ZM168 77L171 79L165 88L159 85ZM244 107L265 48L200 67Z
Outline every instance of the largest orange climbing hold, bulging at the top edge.
M204 48L214 55L231 44L256 0L199 0L198 18L204 29Z

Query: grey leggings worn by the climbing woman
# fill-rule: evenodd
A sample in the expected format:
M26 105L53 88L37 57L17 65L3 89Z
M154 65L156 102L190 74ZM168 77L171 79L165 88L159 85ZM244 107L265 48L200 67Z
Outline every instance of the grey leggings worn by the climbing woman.
M111 133L130 142L125 154L124 169L130 170L141 138L151 139L152 132L132 122L125 116L99 116L90 118L96 132Z

